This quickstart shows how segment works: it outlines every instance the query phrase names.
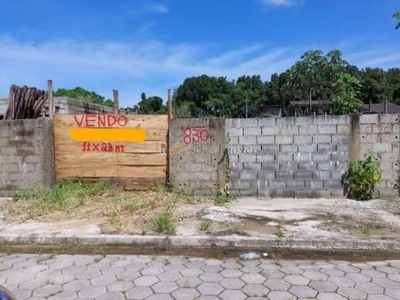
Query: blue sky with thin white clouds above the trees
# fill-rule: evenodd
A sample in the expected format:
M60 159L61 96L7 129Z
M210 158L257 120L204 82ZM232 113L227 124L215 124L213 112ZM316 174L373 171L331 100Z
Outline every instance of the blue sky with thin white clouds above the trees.
M0 0L0 98L82 87L131 107L192 76L269 81L309 50L400 67L400 0Z

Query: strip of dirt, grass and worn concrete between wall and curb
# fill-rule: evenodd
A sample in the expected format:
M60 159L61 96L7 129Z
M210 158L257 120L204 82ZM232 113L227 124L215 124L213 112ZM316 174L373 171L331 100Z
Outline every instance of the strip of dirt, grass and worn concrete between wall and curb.
M157 231L155 220L168 211L173 234L181 236L400 239L399 199L360 202L240 198L215 205L212 198L154 192L103 195L101 200L90 199L67 210L53 209L42 214L32 213L29 207L26 202L0 201L0 232L10 230L11 224L29 224L29 228L36 224L38 230L45 230L43 224L51 224L55 231L59 228L93 234L163 234Z

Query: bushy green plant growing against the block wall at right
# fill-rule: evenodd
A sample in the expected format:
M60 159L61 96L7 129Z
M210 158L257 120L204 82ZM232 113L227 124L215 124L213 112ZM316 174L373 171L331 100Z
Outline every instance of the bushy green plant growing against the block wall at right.
M381 163L374 153L367 152L362 160L351 161L345 182L348 197L357 200L377 197L375 185L381 176Z

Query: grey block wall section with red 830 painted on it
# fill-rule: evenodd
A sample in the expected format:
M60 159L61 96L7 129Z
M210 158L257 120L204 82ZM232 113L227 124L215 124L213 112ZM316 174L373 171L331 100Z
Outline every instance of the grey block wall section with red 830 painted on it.
M215 194L225 184L224 119L170 121L169 175L176 191Z

